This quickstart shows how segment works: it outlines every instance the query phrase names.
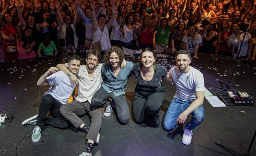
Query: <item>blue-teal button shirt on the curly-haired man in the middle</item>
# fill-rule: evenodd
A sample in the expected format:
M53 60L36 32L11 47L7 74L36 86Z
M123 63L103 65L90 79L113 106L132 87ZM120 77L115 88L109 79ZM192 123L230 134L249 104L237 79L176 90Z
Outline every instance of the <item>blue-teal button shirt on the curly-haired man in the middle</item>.
M126 66L124 69L120 69L117 77L114 76L111 71L110 64L103 64L101 67L101 76L104 81L102 87L108 92L113 92L115 96L120 96L125 94L126 83L128 76L130 75L133 68L133 63L126 61Z

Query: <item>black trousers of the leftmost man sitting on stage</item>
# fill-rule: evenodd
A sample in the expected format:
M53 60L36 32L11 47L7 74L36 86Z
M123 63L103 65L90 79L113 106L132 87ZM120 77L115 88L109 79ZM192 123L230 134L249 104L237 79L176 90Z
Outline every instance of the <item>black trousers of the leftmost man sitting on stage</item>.
M40 128L43 126L51 126L55 128L67 129L69 122L60 114L61 102L56 100L51 94L42 97L36 125ZM46 118L46 114L50 111L53 118Z

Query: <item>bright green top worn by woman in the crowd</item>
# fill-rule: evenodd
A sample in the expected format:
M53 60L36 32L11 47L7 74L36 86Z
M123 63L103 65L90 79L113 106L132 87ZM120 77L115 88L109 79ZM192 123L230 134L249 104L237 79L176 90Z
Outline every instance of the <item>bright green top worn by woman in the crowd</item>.
M156 43L158 43L158 44L168 44L169 33L171 31L170 26L168 26L167 29L165 29L165 31L162 31L161 26L159 26L156 30L157 30Z

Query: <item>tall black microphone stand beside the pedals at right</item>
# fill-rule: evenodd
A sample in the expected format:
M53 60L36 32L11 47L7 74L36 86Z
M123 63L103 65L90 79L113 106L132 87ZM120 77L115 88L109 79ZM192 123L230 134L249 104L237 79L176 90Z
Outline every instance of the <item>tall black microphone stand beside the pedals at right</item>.
M242 32L240 32L240 33L239 33L239 34L244 33L244 35L243 35L243 40L245 39L245 35L249 32L249 30L250 30L250 29L252 29L252 28L254 28L254 27L256 27L256 25L254 25L254 26L252 26L251 28L248 28L247 30L242 31ZM216 94L218 94L219 92L222 92L222 91L224 91L224 90L226 90L226 89L231 89L231 90L233 90L233 91L238 92L237 90L235 90L235 89L233 89L233 88L232 88L232 84L231 84L231 82L232 82L232 78L233 78L233 75L234 75L234 72L235 72L235 68L236 68L237 60L238 60L238 57L239 57L240 52L241 52L241 48L242 48L243 40L242 40L242 42L241 42L241 44L240 44L240 49L239 49L239 52L238 52L238 54L237 54L237 56L236 56L235 64L234 64L234 67L233 67L232 74L231 74L231 76L230 76L229 83L226 85L226 84L225 84L225 83L223 83L222 81L219 81L219 83L220 83L220 84L224 84L226 87L225 87L225 88L223 88L222 90L219 90L219 91L217 91L217 92L213 93L213 94L215 94L215 95L216 95ZM238 41L238 42L239 42L239 41Z

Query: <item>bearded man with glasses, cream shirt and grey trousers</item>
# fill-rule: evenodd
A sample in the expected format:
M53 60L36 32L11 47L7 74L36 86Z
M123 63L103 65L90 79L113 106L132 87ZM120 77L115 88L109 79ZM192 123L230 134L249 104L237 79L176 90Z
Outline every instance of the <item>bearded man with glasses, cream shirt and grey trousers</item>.
M70 72L65 64L58 64L57 68L70 76L72 83L78 84L78 97L73 102L60 108L61 114L74 125L75 128L85 131L85 123L79 118L85 114L91 117L90 130L87 133L87 145L80 156L92 156L93 144L99 143L99 130L102 124L102 108L91 105L92 96L101 87L101 67L99 63L101 53L97 50L89 50L86 55L86 65L80 67L77 75ZM79 82L79 83L78 83Z

